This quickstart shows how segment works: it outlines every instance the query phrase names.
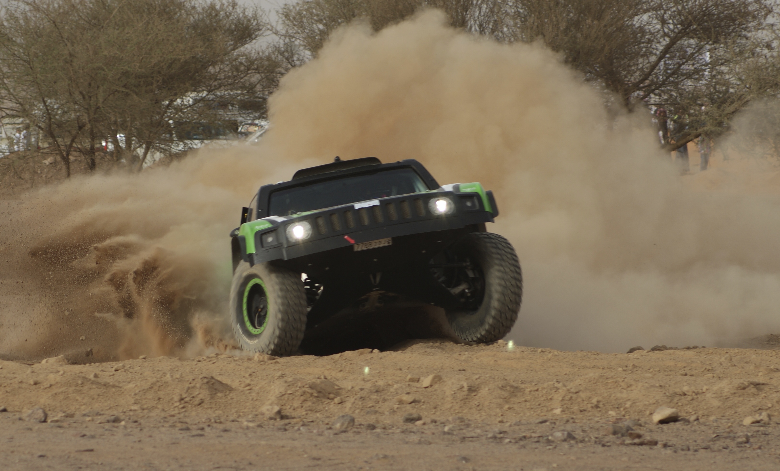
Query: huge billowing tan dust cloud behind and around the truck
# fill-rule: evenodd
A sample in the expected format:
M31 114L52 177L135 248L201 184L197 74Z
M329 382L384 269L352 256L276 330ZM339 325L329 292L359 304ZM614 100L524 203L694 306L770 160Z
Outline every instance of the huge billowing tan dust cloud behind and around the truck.
M7 206L0 353L94 360L231 346L229 230L297 167L415 158L481 181L526 297L510 338L563 350L724 344L780 328L778 197L690 189L649 117L608 121L542 47L443 26L441 13L340 30L289 73L260 146L74 178ZM12 290L9 290L9 285Z

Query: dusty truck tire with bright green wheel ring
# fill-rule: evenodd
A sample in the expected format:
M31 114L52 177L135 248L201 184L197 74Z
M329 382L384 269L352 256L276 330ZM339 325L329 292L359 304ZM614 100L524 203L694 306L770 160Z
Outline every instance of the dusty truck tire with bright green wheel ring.
M243 350L277 357L296 353L306 316L299 273L268 263L239 262L230 286L230 320Z

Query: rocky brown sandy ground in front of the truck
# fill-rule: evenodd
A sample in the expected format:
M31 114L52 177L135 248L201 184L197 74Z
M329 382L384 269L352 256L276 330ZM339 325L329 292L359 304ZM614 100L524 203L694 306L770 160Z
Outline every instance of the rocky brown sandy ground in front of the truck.
M777 408L778 367L777 350L446 341L276 360L0 361L0 469L778 469L778 426L743 425ZM658 406L683 420L653 424ZM36 407L47 422L30 420ZM354 426L339 431L343 414ZM626 424L629 436L608 433Z

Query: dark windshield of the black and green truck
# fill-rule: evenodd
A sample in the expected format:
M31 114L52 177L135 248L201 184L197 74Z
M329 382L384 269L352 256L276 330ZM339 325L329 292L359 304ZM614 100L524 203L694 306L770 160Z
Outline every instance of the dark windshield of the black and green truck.
M269 216L289 216L315 209L388 196L425 192L427 186L412 168L379 170L285 188L271 193Z

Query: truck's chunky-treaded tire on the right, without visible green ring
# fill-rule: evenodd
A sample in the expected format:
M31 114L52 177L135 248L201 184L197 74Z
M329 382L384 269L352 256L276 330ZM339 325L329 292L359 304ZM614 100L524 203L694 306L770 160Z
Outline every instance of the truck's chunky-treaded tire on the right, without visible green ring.
M460 262L475 265L473 279L481 290L481 302L449 309L452 331L467 342L490 343L509 334L517 321L523 301L523 272L512 244L498 234L473 232L452 248Z

